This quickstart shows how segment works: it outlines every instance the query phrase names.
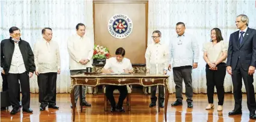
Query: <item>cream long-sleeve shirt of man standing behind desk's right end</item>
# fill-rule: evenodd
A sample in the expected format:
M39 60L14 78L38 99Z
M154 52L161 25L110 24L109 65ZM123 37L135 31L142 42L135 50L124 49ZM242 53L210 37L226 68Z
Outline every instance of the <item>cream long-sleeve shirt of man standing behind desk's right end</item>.
M152 43L146 49L145 58L146 69L149 69L150 73L163 73L169 66L169 49L161 41Z

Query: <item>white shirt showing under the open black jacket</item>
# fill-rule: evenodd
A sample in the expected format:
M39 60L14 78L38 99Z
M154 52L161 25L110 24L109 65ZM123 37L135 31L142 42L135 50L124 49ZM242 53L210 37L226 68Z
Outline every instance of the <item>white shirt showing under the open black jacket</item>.
M19 42L14 43L13 58L11 59L11 66L9 73L21 74L26 72L26 67L23 61L22 53L19 49Z

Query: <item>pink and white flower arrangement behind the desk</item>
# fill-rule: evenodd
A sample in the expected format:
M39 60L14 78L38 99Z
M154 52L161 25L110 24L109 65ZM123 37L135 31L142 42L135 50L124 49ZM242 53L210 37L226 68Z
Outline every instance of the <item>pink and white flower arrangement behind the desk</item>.
M110 53L107 47L95 45L93 48L93 59L108 59L110 58Z

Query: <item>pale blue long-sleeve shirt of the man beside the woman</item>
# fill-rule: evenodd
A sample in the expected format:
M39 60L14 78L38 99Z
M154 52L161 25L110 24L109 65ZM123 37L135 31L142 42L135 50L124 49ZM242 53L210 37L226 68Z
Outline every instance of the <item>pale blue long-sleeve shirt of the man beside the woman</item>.
M193 66L193 63L198 63L198 42L192 35L186 32L181 36L177 35L172 38L169 47L169 61L173 60L172 67Z

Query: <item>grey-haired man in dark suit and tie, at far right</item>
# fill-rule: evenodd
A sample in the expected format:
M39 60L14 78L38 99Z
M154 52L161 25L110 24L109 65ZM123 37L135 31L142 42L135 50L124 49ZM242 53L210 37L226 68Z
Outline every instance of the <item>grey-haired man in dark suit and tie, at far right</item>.
M228 59L226 70L232 76L233 94L235 99L234 110L228 115L242 114L242 78L245 83L247 106L250 111L249 118L256 119L255 95L253 74L256 66L256 30L248 28L249 19L240 14L236 18L239 31L233 32L229 37Z

